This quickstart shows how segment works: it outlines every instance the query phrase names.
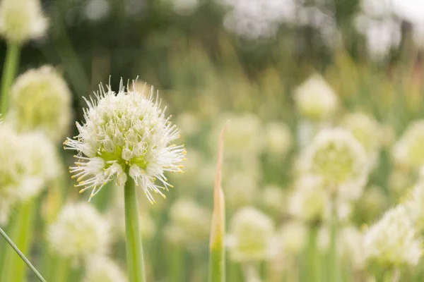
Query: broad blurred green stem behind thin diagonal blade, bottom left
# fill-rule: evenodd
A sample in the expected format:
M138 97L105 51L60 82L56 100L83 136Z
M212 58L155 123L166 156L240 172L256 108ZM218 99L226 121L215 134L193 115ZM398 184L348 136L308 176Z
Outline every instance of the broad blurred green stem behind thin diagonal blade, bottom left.
M11 223L10 228L11 238L15 238L16 245L20 247L20 251L26 254L30 252L33 243L35 207L35 200L30 200L23 204L18 210L16 219ZM21 282L25 279L26 271L24 262L26 264L28 264L28 262L26 262L19 253L18 255L20 257L16 256L13 249L9 248L4 250L0 281ZM31 266L30 269L33 270ZM44 281L44 279L42 281Z

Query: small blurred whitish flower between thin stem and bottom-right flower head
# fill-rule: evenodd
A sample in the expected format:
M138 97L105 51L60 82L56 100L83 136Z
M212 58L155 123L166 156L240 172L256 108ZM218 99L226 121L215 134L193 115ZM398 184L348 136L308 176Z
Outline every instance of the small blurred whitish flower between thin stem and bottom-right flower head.
M354 269L365 267L364 236L354 226L346 226L338 235L339 252Z

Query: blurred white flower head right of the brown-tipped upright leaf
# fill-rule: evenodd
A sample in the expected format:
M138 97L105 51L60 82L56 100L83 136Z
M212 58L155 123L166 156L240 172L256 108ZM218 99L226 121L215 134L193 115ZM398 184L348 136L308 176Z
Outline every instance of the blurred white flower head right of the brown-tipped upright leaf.
M253 207L240 209L231 219L228 248L235 262L257 262L275 255L274 224Z

